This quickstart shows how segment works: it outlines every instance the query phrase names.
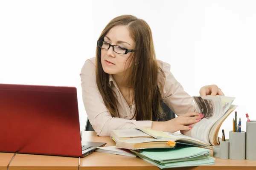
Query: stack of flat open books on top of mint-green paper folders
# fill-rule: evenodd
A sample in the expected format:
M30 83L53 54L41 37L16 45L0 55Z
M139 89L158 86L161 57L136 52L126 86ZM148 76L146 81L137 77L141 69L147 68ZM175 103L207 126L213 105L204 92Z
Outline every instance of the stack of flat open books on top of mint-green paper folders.
M137 127L112 130L117 149L130 150L160 169L214 164L211 147L205 142L178 133Z

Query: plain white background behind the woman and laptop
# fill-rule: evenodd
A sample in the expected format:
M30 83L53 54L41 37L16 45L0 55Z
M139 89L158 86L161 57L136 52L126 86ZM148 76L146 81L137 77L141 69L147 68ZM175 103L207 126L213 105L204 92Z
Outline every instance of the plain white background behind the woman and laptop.
M133 14L149 24L157 59L170 63L185 91L198 96L216 84L236 97L245 130L245 113L256 119L255 9L253 0L2 0L0 83L75 86L84 129L81 67L107 23ZM233 117L221 127L226 138Z

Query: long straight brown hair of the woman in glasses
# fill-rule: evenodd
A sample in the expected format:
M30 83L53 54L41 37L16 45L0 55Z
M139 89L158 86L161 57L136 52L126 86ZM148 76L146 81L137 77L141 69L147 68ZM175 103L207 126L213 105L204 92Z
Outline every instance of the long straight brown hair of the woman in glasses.
M157 120L163 118L161 108L161 87L158 87L158 73L164 77L164 73L157 65L154 51L154 44L151 29L148 24L132 15L121 15L111 20L104 28L99 40L103 40L108 31L114 26L128 26L130 36L135 42L135 48L131 58L130 82L133 91L133 101L135 103L134 117L136 120ZM96 83L103 98L105 106L112 117L119 117L117 109L117 98L109 85L109 74L105 73L101 64L101 48L96 48ZM152 114L153 113L153 114ZM134 119L134 117L132 119Z

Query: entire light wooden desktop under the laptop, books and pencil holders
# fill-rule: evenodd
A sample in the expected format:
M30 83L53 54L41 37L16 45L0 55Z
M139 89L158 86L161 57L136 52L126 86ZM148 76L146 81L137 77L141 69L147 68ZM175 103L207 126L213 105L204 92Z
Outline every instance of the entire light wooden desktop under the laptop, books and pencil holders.
M107 142L113 146L112 139L96 136L95 132L83 132L83 141ZM0 153L0 170L7 170L13 153ZM79 158L62 156L43 156L16 154L9 165L9 170L78 170ZM80 170L160 170L153 164L138 157L120 156L108 153L92 153L80 160ZM225 160L216 158L214 165L172 168L171 170L256 170L256 161Z

